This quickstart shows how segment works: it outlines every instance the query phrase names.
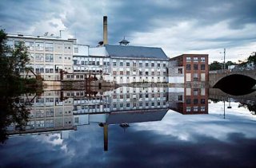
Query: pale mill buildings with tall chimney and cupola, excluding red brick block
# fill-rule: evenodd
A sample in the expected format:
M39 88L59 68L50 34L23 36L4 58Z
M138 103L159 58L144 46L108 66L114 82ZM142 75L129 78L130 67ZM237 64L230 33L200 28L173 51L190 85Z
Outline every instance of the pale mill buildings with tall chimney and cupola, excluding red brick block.
M27 36L8 33L7 44L24 42L30 52L32 71L46 81L98 79L129 84L132 82L167 82L169 58L161 48L131 46L125 39L120 45L108 45L107 21L103 18L103 44L98 47L78 45L76 39ZM20 69L22 76L34 77ZM64 72L64 73L62 73Z

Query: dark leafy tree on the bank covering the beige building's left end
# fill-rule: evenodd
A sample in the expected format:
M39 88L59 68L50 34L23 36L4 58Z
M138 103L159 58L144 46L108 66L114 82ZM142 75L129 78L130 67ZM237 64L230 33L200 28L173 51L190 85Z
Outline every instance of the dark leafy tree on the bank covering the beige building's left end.
M19 42L11 49L6 45L7 34L0 30L0 85L8 87L20 79L19 69L25 68L30 61L24 43Z

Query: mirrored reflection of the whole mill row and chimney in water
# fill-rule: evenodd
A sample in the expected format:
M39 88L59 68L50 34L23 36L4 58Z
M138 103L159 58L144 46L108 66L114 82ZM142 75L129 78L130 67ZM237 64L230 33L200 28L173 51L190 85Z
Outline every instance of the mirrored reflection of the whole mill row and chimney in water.
M108 144L108 126L160 121L171 109L182 114L208 114L205 88L130 88L106 92L45 91L41 96L20 96L30 101L30 117L24 131L8 127L8 135L50 134L62 138L79 126L98 123L103 130L104 150Z

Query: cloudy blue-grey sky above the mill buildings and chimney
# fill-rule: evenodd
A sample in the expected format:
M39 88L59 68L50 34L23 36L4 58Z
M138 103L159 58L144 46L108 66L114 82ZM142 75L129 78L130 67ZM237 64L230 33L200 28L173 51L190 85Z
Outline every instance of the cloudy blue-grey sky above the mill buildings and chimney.
M254 0L1 0L0 26L8 33L54 35L65 30L81 44L102 41L108 16L109 43L162 47L169 57L209 53L210 61L238 61L256 51Z

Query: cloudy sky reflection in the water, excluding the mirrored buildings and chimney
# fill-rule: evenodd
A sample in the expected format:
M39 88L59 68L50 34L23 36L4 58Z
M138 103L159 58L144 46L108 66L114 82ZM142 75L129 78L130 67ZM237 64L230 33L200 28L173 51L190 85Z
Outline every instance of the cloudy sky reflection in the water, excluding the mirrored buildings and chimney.
M227 107L226 103L226 107ZM59 134L11 138L0 146L1 166L226 167L254 166L255 118L238 103L209 104L209 115L169 111L159 122L109 126L109 151L97 123Z

